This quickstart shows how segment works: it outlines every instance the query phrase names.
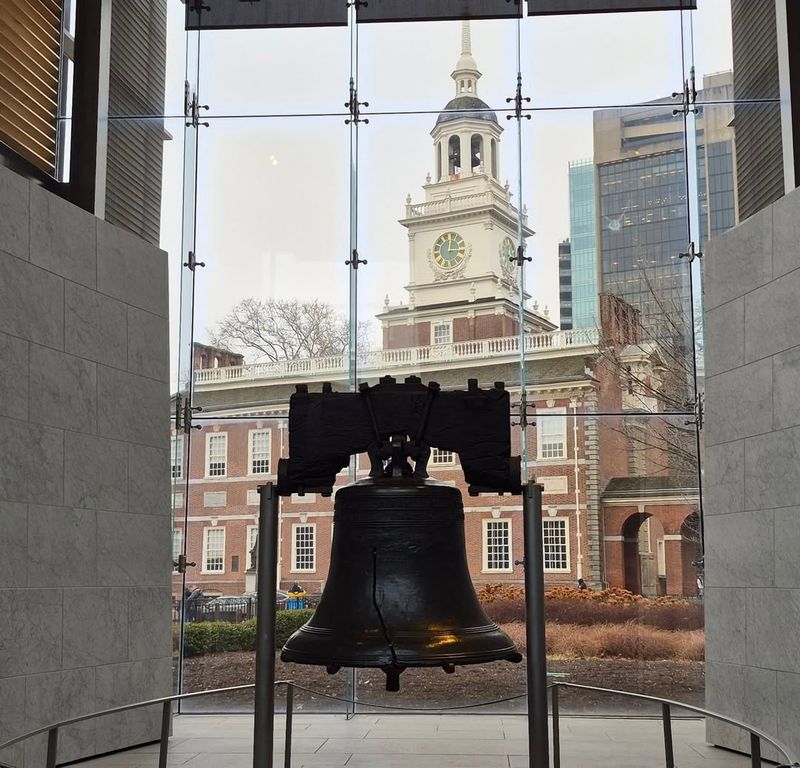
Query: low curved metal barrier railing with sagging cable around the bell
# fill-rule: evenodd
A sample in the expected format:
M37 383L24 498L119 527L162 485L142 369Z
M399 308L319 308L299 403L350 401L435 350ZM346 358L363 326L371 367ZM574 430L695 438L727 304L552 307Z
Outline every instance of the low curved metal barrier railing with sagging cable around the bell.
M482 702L477 702L475 704L458 704L451 707L406 708L406 707L398 707L396 705L391 705L391 704L375 704L367 701L359 701L357 699L356 700L345 699L340 696L333 696L328 693L323 693L322 691L315 691L311 688L306 688L302 685L297 685L292 680L276 680L275 687L277 688L278 686L286 686L286 731L285 731L285 742L284 742L285 768L289 768L289 766L291 765L291 758L292 758L292 724L293 724L293 714L294 714L295 690L305 691L307 693L313 694L314 696L320 696L325 699L331 699L332 701L342 701L354 707L358 707L360 705L363 707L371 707L371 708L387 709L395 711L411 710L413 712L437 712L437 713L473 709L476 707L485 707L492 704L501 704L508 701L514 701L515 699L523 699L527 697L527 694L519 694L517 696L509 696L507 698L496 699L493 701L482 701ZM252 683L249 685L234 685L228 688L214 688L208 691L196 691L194 693L174 694L173 696L164 696L158 699L139 701L136 702L135 704L126 704L121 707L112 707L111 709L104 709L100 712L93 712L88 715L72 717L68 720L62 720L61 722L54 723L52 725L45 725L42 728L37 728L34 731L30 731L21 736L17 736L16 738L6 741L0 744L0 752L7 749L8 747L14 746L15 744L19 744L23 741L26 741L27 739L33 738L34 736L47 734L47 758L45 762L45 768L55 768L57 764L58 735L60 729L65 728L69 725L74 725L75 723L81 723L86 720L92 720L95 717L104 717L106 715L114 715L120 712L129 712L134 709L142 709L144 707L152 707L160 704L162 710L161 710L161 736L159 739L158 767L167 768L167 758L169 754L169 735L172 724L173 702L183 701L185 699L200 698L203 696L212 696L220 693L230 693L232 691L245 691L251 688L255 688L255 685ZM781 744L768 734L764 733L764 731L758 728L754 728L750 725L747 725L746 723L743 723L740 720L736 720L735 718L727 717L726 715L721 715L718 712L712 712L702 707L696 707L692 704L684 704L683 702L680 701L662 699L657 696L648 696L647 694L643 693L631 693L630 691L617 691L611 688L597 688L596 686L592 685L579 685L578 683L565 683L565 682L556 682L548 686L548 689L550 690L550 701L551 701L550 706L552 714L551 727L552 727L554 768L561 768L561 736L560 736L561 729L560 729L560 713L559 713L559 691L562 688L567 688L567 689L571 688L582 691L595 691L596 693L602 693L612 696L622 696L624 698L632 698L641 701L649 701L660 704L662 731L664 735L665 768L675 768L675 758L674 758L673 740L672 740L672 712L675 709L693 712L702 717L711 718L721 723L726 723L727 725L732 725L736 728L740 728L742 731L748 733L750 736L750 755L751 755L751 764L753 768L761 768L761 751L762 751L762 745L765 743L773 747L773 749L775 749L779 754L783 755L783 757L786 760L785 764L779 765L777 766L777 768L800 768L800 762L798 762L796 756L789 750L788 747Z

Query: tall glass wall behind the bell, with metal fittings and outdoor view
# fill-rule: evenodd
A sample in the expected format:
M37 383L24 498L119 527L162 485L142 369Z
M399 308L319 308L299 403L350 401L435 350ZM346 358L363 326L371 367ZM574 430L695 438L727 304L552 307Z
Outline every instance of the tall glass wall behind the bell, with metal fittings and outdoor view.
M291 393L416 375L511 392L544 487L554 679L702 702L700 255L742 219L739 126L779 117L771 92L738 97L729 3L700 5L184 33L169 0L178 688L253 682L256 489L288 455ZM337 488L367 474L357 457ZM457 454L431 474L466 491ZM465 513L469 577L524 644L521 500L465 494ZM332 499L282 500L282 631L307 616L289 592L318 602L333 534ZM524 707L524 662L410 670L400 693L375 671L277 677L311 711Z

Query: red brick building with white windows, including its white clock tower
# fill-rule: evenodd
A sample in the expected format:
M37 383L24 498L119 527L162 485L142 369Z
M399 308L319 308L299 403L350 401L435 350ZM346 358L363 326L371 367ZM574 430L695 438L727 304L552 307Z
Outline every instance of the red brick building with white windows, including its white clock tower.
M523 471L544 486L546 582L583 578L593 587L692 593L695 576L681 526L696 492L676 482L668 441L647 421L661 410L658 350L640 343L636 310L610 295L601 297L600 328L559 330L535 302L520 311L513 259L519 232L523 243L533 232L499 182L503 129L477 97L480 72L467 26L452 77L456 96L431 132L435 179L424 185L423 201L409 196L400 220L408 230L407 300L392 305L387 297L378 315L382 348L359 355L359 381L413 374L444 389L465 388L470 378L481 387L503 381L518 402L524 343L525 392L533 407ZM187 584L206 594L254 589L256 488L275 479L277 460L286 456L295 386L313 391L323 382L348 389L346 355L245 364L241 356L196 345L193 404L203 408L203 429L173 436L175 506L183 510L174 546L196 564ZM599 415L608 413L619 415ZM642 430L648 437L637 440ZM521 453L521 435L512 429L512 453ZM434 451L429 470L465 494L473 580L521 584L521 499L467 496L458 456L446 451ZM359 457L356 479L368 472L366 457ZM337 487L349 480L341 473ZM333 503L315 494L282 500L282 587L297 582L309 592L322 590ZM176 594L181 583L176 575Z

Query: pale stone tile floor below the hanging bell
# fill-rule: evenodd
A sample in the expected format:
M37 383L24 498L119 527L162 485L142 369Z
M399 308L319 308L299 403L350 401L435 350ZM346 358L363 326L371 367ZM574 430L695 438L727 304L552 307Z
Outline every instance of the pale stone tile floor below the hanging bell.
M284 720L275 743L282 768ZM182 715L174 720L169 765L250 768L253 718ZM526 721L496 715L297 715L293 768L527 768ZM705 743L703 720L673 721L677 768L747 768L749 758ZM84 761L81 768L155 768L153 744ZM660 720L562 717L564 768L664 765Z

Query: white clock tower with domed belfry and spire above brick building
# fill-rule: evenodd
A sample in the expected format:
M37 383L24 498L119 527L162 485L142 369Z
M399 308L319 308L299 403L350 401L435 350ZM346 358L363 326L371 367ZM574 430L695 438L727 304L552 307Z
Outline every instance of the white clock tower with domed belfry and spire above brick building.
M431 131L435 179L423 186L424 202L406 199L400 223L408 229L408 303L378 317L384 348L469 341L519 332L520 213L508 184L499 180L503 129L478 98L481 73L472 57L469 22L463 22L461 56L451 77L455 97ZM522 215L523 238L533 234ZM527 295L526 295L527 298ZM532 332L556 326L526 311Z

